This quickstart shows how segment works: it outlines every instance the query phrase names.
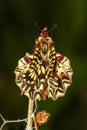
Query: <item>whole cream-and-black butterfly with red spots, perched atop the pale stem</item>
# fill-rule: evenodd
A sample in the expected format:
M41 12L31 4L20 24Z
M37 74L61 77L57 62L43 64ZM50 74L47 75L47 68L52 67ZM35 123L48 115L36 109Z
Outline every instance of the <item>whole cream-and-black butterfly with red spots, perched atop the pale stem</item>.
M33 100L63 96L72 83L72 68L67 57L56 52L45 27L36 39L34 52L18 61L15 81L21 94Z

